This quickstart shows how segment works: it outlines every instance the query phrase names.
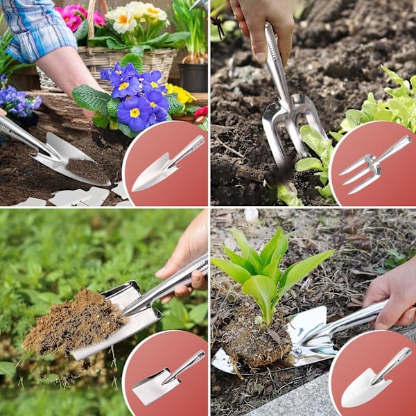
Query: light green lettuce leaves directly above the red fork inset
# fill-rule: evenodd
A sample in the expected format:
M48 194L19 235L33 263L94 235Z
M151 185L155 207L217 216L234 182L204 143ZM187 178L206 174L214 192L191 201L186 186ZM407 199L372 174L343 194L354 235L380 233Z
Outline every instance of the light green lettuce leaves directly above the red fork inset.
M391 96L386 101L376 101L374 94L370 92L361 110L347 110L340 130L330 133L334 139L340 140L346 132L369 121L392 121L416 132L416 75L409 81L400 78L397 73L390 71L383 65L381 68L399 87L384 89Z

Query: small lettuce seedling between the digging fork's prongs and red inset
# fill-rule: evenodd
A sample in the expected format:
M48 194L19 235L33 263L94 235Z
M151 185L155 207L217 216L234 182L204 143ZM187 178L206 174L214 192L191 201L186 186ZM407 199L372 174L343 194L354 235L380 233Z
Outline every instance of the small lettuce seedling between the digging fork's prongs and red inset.
M303 125L300 128L300 137L302 140L320 157L306 157L295 164L298 172L318 171L314 175L318 175L323 187L315 187L324 198L333 198L331 187L328 184L329 161L334 148L331 140L325 140L319 132L310 125Z

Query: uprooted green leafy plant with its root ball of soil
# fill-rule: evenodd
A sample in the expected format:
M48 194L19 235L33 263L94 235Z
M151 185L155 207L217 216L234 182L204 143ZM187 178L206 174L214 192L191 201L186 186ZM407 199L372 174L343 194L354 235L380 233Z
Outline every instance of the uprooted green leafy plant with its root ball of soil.
M286 331L286 320L277 313L277 304L293 285L334 250L320 252L281 270L281 260L288 250L288 238L283 229L277 228L260 253L250 247L243 232L233 228L232 234L241 255L223 245L230 261L211 259L211 263L241 284L243 295L251 295L259 310L247 306L250 300L241 306L235 319L223 329L222 347L237 374L240 374L238 363L255 368L279 360L290 362L291 339ZM253 309L261 315L252 315ZM277 333L279 335L275 336Z

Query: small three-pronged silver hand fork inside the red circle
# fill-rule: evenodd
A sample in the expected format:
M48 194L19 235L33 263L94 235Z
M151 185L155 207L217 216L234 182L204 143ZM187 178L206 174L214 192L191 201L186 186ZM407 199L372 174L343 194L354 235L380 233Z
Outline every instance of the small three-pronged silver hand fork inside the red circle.
M388 157L394 155L395 153L399 152L399 150L405 148L412 142L412 139L410 136L404 136L399 141L397 141L395 144L393 144L390 148L385 150L383 155L379 157L375 157L371 153L368 155L364 155L360 159L358 159L356 162L354 162L351 166L348 166L345 168L339 175L346 175L347 173L350 173L354 171L359 166L366 164L365 168L363 168L361 171L356 173L356 175L352 176L343 183L343 185L352 184L352 182L355 182L360 177L363 177L364 175L367 175L367 173L372 172L372 175L370 177L367 177L366 180L363 180L361 184L358 184L356 187L354 187L351 191L349 191L348 195L352 195L353 193L356 193L358 191L361 191L361 189L364 189L365 187L368 187L368 185L375 182L379 177L381 176L381 162L385 161Z

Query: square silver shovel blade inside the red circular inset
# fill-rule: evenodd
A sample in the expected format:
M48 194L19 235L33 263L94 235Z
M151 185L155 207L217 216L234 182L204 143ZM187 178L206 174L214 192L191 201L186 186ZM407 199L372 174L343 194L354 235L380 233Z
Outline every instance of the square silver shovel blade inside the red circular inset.
M132 390L144 406L148 406L180 385L180 380L176 378L164 384L164 381L171 375L169 369L164 368L164 370L133 385Z

